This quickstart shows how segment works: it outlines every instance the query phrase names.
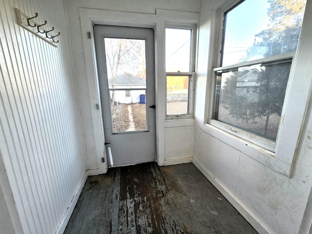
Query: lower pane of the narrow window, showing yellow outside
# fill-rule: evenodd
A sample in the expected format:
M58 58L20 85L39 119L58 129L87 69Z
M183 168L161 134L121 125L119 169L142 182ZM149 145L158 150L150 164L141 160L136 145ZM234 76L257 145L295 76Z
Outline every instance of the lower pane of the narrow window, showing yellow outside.
M189 77L167 76L167 115L189 114Z

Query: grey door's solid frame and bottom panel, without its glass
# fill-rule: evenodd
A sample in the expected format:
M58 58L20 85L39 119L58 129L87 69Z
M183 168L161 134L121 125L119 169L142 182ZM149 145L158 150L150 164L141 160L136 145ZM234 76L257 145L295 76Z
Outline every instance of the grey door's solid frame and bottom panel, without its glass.
M103 110L103 128L106 141L110 142L114 167L126 166L135 163L151 162L156 160L156 112L150 106L155 105L155 43L154 31L151 28L120 27L107 25L94 25L95 45L98 62L98 83L101 94L101 107ZM114 132L112 119L112 106L107 74L107 44L106 38L137 39L144 44L146 83L143 87L131 87L130 90L145 94L146 124L145 130ZM116 88L116 87L115 87ZM126 89L126 87L124 87ZM123 90L118 87L117 90ZM135 140L134 140L135 139ZM117 143L118 142L118 143Z

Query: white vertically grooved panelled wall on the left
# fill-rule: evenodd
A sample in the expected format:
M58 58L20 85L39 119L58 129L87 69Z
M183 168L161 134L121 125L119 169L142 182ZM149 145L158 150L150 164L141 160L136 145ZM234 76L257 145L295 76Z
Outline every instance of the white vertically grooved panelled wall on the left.
M58 48L15 9L60 32ZM0 156L24 233L55 233L85 174L62 0L0 0Z

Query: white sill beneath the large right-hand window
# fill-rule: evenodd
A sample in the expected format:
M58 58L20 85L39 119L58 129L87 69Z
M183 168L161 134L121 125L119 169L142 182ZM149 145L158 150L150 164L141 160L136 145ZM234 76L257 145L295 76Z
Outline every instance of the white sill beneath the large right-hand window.
M200 129L205 133L208 133L209 135L232 146L234 149L244 153L245 155L254 158L258 162L266 165L274 171L288 177L291 176L292 165L277 159L273 152L259 147L247 140L236 137L210 124L200 124Z

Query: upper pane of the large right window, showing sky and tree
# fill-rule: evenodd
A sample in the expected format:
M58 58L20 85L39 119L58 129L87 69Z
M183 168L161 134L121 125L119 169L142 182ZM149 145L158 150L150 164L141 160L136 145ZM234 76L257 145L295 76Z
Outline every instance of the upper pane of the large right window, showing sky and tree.
M293 52L306 0L245 0L225 14L222 66Z

